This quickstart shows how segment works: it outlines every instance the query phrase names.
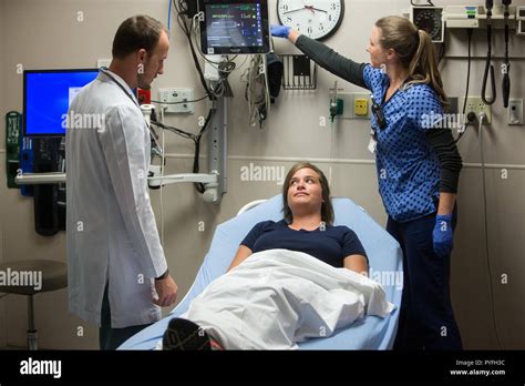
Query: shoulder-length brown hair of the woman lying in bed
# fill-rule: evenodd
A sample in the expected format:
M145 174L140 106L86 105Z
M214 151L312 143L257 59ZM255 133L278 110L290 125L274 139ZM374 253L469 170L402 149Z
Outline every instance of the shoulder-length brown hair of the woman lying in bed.
M285 179L285 184L282 185L282 212L285 212L285 220L287 223L291 223L294 221L294 214L291 213L290 206L288 205L288 189L290 187L290 180L297 171L301 169L311 169L319 175L319 183L321 184L322 189L322 205L321 205L321 220L331 225L333 223L333 207L332 202L330 200L330 186L328 184L328 180L322 173L322 171L312 165L309 162L298 162L288 171L288 174Z

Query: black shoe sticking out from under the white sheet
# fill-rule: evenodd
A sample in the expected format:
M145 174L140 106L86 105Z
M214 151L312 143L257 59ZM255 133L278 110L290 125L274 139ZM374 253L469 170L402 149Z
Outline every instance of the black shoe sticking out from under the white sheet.
M162 345L163 349L212 349L212 339L197 324L175 317L167 325Z

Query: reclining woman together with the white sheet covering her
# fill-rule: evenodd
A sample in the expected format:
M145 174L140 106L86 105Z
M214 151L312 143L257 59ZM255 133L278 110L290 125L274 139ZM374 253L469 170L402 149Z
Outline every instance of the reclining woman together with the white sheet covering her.
M282 190L285 219L254 226L228 273L169 322L163 348L297 348L297 342L330 336L364 314L388 315L393 305L367 277L356 233L331 225L329 196L318 167L292 166Z

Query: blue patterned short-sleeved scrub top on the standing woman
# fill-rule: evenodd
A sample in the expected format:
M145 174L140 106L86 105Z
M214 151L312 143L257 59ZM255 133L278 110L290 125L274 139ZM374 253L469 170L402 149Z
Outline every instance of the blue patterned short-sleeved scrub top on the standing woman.
M363 78L387 120L387 126L380 129L372 116L379 193L388 214L406 222L435 212L441 166L424 132L443 113L436 93L428 84L413 84L400 88L382 103L390 85L388 75L367 64Z

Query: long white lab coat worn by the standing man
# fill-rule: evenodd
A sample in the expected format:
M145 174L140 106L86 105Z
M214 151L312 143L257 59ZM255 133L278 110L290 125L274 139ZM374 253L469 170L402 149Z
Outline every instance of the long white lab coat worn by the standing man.
M70 105L66 251L70 311L100 326L109 283L111 325L121 328L161 318L154 277L167 265L147 191L148 129L115 81L99 74ZM93 128L89 120L99 118L103 125Z

